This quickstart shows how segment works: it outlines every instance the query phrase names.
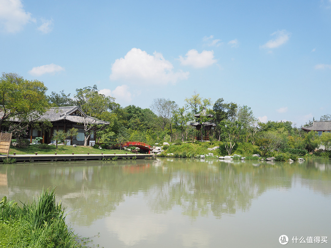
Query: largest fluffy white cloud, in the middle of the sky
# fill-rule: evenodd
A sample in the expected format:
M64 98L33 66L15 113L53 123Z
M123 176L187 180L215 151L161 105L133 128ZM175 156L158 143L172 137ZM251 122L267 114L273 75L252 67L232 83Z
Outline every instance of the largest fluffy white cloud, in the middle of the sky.
M145 83L176 83L187 79L189 72L173 72L173 65L165 60L161 53L149 55L146 51L132 48L124 58L115 60L112 64L111 80L124 79Z

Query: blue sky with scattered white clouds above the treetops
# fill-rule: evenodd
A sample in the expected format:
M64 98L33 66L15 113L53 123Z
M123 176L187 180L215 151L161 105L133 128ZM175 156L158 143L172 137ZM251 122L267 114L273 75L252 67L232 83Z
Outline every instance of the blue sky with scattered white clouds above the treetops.
M194 91L297 126L331 114L331 0L0 0L1 72L122 106Z

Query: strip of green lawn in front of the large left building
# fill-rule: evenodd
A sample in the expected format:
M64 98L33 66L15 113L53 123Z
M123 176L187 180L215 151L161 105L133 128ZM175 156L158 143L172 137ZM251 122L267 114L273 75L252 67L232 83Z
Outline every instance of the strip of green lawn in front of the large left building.
M76 147L72 147L72 145L58 145L58 149L55 148L55 145L49 145L48 149L40 149L38 145L29 145L27 148L21 149L11 146L9 149L9 154L13 154L13 152L16 152L17 155L34 154L35 152L38 152L38 154L54 154L54 152L57 152L57 154L71 154L72 152L74 152L75 154L87 154L88 152L90 154L101 154L101 152L103 152L104 154L114 154L114 152L116 152L117 154L125 154L125 152L127 152L128 154L133 154L132 152L125 150L96 149L92 146L82 145L77 145Z

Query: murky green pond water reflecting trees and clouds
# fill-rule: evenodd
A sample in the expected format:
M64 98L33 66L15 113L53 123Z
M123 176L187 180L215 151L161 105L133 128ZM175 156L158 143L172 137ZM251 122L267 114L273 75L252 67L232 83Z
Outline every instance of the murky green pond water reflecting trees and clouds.
M100 247L280 247L282 235L287 246L331 244L331 160L158 158L0 167L1 197L25 202L54 185L67 222L81 236L99 233L93 240Z

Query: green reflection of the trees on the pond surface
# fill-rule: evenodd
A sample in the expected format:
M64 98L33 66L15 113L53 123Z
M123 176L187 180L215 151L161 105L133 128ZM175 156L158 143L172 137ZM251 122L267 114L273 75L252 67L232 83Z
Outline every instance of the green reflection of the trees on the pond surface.
M177 158L3 165L0 194L24 202L43 187L55 185L56 199L73 211L73 224L82 226L110 216L126 197L138 194L155 213L180 207L193 219L221 218L248 211L252 200L268 189L288 190L295 180L330 196L330 168L329 160L290 164Z

